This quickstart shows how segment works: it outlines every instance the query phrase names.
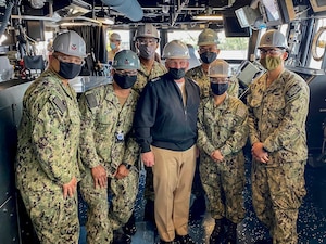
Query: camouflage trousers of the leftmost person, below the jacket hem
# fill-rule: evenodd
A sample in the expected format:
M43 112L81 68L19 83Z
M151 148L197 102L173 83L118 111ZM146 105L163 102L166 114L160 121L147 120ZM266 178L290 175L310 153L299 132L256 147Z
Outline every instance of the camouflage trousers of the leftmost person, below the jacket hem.
M41 244L77 244L79 220L77 194L63 198L62 188L40 191L21 188L22 200Z

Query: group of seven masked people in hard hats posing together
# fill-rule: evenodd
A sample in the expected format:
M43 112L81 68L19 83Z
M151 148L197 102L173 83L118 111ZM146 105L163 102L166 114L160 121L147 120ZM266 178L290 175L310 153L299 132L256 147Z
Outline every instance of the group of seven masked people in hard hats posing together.
M189 49L179 40L164 47L165 65L155 61L159 40L153 25L139 26L137 54L116 52L113 82L77 101L68 79L80 72L86 44L74 31L54 39L49 67L24 95L18 129L16 185L39 241L78 243L78 184L88 206L87 243L130 243L143 164L146 214L152 213L160 243L195 243L188 221L198 175L215 221L210 244L236 244L249 139L256 216L274 244L298 243L309 87L285 68L285 36L267 30L261 37L266 73L250 85L246 104L229 64L217 59L214 30L200 34L201 65L190 70Z

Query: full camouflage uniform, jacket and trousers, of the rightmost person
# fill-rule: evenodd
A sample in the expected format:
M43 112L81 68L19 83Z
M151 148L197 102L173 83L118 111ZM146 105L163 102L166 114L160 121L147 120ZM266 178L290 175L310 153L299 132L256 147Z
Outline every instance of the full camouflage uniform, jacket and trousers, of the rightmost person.
M252 201L273 243L296 244L298 209L306 194L309 87L287 69L269 87L266 79L266 74L256 79L248 94L250 141L262 142L269 159L252 162Z

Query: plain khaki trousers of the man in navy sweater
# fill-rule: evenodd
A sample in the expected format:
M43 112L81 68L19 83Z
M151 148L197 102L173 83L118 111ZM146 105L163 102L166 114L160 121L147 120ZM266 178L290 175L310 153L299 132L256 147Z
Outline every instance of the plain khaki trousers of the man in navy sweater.
M196 146L171 151L152 146L155 223L165 242L188 233L189 202L196 168Z

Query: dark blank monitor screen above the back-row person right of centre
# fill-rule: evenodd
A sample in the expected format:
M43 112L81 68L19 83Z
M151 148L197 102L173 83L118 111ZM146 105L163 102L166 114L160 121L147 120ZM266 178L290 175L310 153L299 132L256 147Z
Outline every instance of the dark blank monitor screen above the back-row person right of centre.
M250 37L249 27L242 28L236 15L223 15L225 37Z

